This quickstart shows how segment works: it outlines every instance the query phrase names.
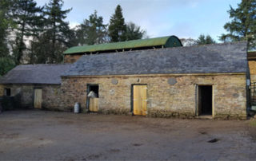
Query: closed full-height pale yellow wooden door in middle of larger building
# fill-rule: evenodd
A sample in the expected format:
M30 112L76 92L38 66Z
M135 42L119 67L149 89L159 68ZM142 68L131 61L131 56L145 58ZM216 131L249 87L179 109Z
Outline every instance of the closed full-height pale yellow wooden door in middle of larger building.
M134 85L134 115L146 115L146 85Z

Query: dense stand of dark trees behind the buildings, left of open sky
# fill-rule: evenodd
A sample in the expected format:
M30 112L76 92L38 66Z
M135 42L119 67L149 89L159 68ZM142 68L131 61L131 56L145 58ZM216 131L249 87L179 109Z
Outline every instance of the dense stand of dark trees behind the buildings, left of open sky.
M134 40L146 34L133 22L126 25L119 5L110 25L95 10L70 29L65 19L71 9L63 10L63 5L63 0L49 0L45 6L38 6L35 0L0 1L1 75L14 65L60 63L63 51L74 45Z

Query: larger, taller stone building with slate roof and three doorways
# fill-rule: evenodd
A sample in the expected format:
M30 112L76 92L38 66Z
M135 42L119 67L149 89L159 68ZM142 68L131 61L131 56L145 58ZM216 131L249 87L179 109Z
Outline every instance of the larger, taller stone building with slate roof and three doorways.
M246 119L248 78L246 42L84 55L62 74L59 108Z

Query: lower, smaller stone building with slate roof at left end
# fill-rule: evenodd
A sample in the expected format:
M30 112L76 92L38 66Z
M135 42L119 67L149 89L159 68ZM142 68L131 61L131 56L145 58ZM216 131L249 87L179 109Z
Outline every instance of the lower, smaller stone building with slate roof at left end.
M61 73L70 65L18 65L0 77L0 96L19 96L21 108L59 106Z

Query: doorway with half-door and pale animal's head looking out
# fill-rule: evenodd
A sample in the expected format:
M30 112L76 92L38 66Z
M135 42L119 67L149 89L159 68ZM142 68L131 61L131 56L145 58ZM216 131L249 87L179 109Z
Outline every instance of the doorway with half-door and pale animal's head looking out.
M87 84L86 108L98 112L98 84Z

